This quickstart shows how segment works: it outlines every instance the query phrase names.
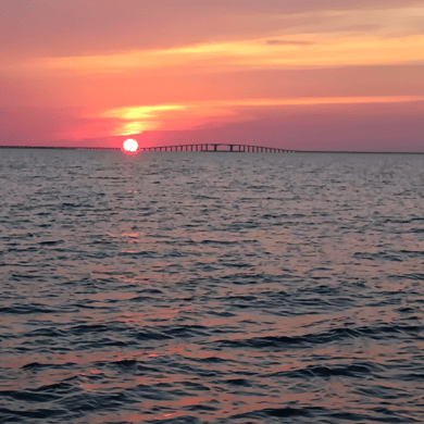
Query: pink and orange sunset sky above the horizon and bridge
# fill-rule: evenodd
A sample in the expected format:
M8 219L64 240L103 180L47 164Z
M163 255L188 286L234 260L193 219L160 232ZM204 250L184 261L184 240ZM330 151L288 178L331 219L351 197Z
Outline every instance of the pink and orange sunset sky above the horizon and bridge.
M0 0L0 145L424 152L424 0Z

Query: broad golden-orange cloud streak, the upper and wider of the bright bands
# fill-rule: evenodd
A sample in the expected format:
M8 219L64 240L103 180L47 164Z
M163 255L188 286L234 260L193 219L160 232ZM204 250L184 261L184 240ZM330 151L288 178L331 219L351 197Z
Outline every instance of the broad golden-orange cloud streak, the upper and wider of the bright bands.
M119 54L47 58L25 64L22 72L46 74L129 73L142 70L189 66L198 72L225 72L249 68L301 68L364 64L395 64L424 61L424 35L394 39L374 36L339 37L321 34L310 45L272 43L264 39L196 45L177 49L140 50ZM303 41L303 40L299 40ZM310 42L305 40L307 42ZM265 45L265 46L264 46ZM296 49L296 47L298 49Z

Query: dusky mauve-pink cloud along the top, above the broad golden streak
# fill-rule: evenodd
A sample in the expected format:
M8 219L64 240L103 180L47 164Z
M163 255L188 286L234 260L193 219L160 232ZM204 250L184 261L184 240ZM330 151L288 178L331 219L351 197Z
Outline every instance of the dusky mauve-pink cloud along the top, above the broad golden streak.
M314 21L325 27L328 18L337 22L348 11L362 11L352 25L363 20L366 25L366 20L375 21L375 11L422 5L422 0L14 0L3 7L0 46L3 61L175 48L270 38L280 29L304 30ZM396 17L401 20L402 13Z

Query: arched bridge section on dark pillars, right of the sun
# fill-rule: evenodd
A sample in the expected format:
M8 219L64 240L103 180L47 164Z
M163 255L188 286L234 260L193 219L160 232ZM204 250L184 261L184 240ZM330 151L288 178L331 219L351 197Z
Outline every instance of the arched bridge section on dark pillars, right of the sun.
M198 151L228 153L292 153L296 150L252 145L228 145L224 142L202 142L195 145L139 147L138 151Z

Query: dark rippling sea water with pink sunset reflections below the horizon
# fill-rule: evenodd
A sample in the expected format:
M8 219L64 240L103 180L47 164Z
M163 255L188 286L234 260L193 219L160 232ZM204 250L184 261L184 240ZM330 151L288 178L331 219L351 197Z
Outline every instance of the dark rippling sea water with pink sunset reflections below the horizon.
M0 151L0 423L424 422L424 155Z

